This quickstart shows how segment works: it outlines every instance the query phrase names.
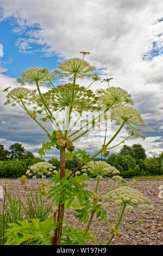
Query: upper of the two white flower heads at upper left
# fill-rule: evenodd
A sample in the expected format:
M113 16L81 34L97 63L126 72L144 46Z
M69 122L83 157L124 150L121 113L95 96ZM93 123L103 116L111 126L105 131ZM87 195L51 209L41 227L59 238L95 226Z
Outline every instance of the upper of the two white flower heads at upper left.
M25 84L46 84L50 86L50 81L55 80L55 76L49 72L48 69L41 69L41 68L31 68L27 69L26 71L22 72L21 78L17 78L17 82L21 83L21 86Z

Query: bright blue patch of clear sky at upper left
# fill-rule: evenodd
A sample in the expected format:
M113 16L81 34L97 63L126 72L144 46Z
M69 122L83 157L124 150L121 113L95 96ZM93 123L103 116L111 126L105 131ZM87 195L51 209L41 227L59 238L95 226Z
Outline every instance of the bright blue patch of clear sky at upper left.
M3 68L8 69L4 72L5 75L17 78L21 76L23 71L34 66L49 70L57 68L59 64L57 56L43 56L42 46L40 45L32 44L32 48L29 49L32 53L24 54L20 52L16 46L16 42L20 39L20 33L12 31L13 28L14 24L10 20L0 22L0 44L3 46L3 57L0 57L0 62ZM26 29L27 32L28 29ZM21 38L26 40L24 33L22 33Z

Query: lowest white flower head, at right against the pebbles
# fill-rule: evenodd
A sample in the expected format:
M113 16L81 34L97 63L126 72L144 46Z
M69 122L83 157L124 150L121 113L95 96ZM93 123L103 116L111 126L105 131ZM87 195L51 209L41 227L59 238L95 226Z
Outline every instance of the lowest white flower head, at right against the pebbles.
M149 205L151 202L147 197L128 186L119 187L105 194L102 198L104 202L114 202L116 205L126 204L128 210L133 210L134 208L154 209L152 205ZM106 206L106 203L104 205Z

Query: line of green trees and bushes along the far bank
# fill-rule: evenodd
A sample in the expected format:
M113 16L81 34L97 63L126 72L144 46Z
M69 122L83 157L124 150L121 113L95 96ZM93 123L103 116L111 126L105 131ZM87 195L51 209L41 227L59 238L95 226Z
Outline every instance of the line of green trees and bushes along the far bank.
M0 144L0 176L4 178L20 177L26 174L28 166L46 161L26 151L20 143L12 144L9 150L5 150L4 145ZM123 145L117 154L109 154L103 160L120 170L123 178L163 175L163 153L159 157L147 157L145 149L140 144L133 144L131 147ZM52 157L48 162L59 170L60 161L57 158ZM74 155L72 160L67 159L65 164L67 169L73 170L80 165L80 159Z

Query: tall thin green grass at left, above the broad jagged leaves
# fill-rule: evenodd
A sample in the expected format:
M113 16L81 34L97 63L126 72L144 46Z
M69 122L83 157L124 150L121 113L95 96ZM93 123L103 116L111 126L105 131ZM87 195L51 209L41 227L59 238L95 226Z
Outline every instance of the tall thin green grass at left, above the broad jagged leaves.
M11 228L10 223L18 223L24 219L36 218L40 222L46 221L51 214L51 206L43 195L37 191L26 194L26 203L15 196L12 190L4 189L2 207L0 207L0 246L4 245L7 237L7 229Z

